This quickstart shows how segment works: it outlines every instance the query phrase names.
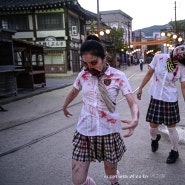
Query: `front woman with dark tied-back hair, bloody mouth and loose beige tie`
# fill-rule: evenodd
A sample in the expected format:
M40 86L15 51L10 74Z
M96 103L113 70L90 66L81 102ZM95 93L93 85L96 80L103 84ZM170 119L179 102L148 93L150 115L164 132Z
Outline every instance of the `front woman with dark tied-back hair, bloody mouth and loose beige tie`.
M124 137L133 134L138 125L139 108L125 74L105 62L105 50L100 42L85 41L80 55L85 68L63 104L64 115L72 116L68 105L82 91L82 109L73 137L72 181L74 185L95 185L88 170L90 163L97 160L104 162L111 184L119 185L117 163L126 151L120 132L128 130ZM115 104L119 91L126 97L132 120L119 117ZM126 125L122 127L121 123Z

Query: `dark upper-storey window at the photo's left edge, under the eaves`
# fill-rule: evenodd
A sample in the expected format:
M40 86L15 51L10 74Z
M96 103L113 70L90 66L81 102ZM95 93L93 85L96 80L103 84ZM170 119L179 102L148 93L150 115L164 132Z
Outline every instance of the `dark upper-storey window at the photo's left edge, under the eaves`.
M2 28L25 31L29 30L29 21L27 15L6 15L0 17Z

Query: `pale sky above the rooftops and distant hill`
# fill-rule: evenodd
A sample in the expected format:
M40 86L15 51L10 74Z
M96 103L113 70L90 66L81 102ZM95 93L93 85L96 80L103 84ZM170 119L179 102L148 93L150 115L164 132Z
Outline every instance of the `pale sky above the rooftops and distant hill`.
M97 13L97 0L78 0L81 7ZM176 11L175 11L176 2ZM132 30L185 19L185 0L99 0L99 11L121 10L132 20Z

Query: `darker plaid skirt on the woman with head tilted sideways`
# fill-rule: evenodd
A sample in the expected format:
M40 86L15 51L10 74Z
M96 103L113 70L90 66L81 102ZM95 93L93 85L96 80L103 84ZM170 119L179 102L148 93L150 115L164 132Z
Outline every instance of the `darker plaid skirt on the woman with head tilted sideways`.
M164 102L151 97L146 121L164 125L178 123L180 121L178 101Z

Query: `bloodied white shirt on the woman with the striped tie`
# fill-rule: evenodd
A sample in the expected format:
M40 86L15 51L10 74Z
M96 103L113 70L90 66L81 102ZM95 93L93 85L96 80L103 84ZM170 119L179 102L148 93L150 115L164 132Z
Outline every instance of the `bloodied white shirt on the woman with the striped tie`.
M168 72L166 69L168 58L169 54L156 54L149 64L154 69L150 94L157 100L176 102L178 93L175 82L178 79L181 82L185 81L185 66L179 63L173 72Z

